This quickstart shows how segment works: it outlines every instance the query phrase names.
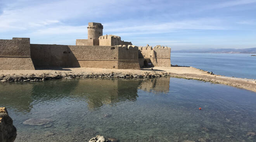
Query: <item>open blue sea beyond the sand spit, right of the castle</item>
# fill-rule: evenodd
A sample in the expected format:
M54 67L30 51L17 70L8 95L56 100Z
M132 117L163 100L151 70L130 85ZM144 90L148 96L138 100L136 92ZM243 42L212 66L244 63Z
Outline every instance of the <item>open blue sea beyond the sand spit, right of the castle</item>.
M253 54L171 53L171 64L192 66L214 74L256 79Z

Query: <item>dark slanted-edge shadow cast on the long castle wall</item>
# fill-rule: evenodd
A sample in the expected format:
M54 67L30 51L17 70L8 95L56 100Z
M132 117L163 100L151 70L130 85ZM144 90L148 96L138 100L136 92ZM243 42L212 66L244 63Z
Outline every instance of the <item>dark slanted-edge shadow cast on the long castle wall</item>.
M30 44L35 69L80 68L78 60L66 45Z

